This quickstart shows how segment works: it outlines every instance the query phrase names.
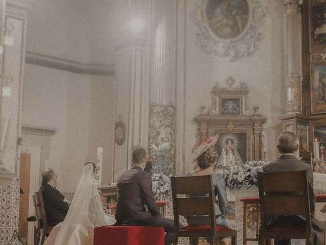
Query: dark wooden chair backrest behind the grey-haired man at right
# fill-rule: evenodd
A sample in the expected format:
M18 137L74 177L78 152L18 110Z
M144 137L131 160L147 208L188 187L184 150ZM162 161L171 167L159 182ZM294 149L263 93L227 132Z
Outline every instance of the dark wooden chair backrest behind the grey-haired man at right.
M258 173L261 226L269 215L303 215L310 227L310 204L306 170Z

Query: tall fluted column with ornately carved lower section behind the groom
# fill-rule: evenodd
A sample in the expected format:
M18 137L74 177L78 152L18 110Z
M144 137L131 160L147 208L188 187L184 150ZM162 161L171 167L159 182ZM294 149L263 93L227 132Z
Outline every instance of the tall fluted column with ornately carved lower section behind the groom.
M153 0L149 153L157 164L152 144L168 143L162 173L176 173L176 1Z

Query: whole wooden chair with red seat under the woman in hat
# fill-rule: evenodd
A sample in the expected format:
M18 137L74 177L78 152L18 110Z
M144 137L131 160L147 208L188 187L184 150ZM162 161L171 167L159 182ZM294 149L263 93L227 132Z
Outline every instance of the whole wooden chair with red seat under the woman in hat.
M223 237L232 237L232 245L236 244L236 231L225 226L216 226L214 195L211 175L192 177L171 177L172 200L174 212L174 241L179 236L210 237L210 244L219 244ZM179 229L179 215L208 215L210 225L186 226Z

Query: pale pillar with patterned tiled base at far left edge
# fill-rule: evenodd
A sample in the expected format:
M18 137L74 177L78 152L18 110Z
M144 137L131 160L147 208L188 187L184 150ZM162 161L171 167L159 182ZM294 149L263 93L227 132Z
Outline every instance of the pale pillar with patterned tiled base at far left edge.
M27 3L29 2L29 3ZM0 167L0 244L8 244L18 231L19 214L19 143L21 136L22 90L25 64L25 42L28 9L32 3L24 0L2 0L0 45L1 57L1 160ZM13 38L12 45L4 45L4 37ZM6 93L3 88L6 87ZM4 168L7 171L4 171ZM15 239L12 244L17 244Z

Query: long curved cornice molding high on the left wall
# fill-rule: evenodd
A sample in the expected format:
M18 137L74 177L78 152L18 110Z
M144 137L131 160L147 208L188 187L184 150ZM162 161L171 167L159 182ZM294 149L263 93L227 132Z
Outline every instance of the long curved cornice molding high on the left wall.
M77 74L115 76L114 65L85 64L28 51L26 51L25 54L25 63L69 71Z

